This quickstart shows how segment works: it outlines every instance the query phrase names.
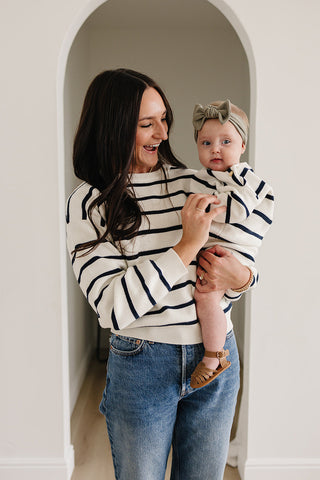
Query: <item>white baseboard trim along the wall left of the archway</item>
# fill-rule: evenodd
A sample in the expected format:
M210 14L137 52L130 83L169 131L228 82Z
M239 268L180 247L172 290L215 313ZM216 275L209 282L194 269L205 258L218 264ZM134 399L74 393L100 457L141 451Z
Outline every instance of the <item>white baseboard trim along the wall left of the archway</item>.
M1 480L70 480L73 468L72 445L66 458L0 458Z

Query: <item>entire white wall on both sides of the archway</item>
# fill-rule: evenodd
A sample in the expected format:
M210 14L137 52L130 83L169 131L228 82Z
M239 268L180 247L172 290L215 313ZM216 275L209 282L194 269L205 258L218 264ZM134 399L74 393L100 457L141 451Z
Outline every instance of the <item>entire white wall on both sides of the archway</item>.
M275 223L259 256L263 275L252 295L246 338L249 410L242 473L246 480L314 480L320 472L315 251L320 5L316 0L212 3L250 45L257 80L255 166L277 198ZM81 10L89 12L90 1L2 3L1 479L65 480L72 468L56 75L64 35L70 26L70 35L76 30Z

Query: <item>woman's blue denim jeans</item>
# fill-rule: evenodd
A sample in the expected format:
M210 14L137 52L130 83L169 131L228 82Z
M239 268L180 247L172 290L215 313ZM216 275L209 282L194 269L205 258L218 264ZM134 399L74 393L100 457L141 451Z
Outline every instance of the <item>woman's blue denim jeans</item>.
M227 335L231 367L200 389L190 376L203 345L169 345L112 335L106 416L117 480L222 480L239 389L239 357Z

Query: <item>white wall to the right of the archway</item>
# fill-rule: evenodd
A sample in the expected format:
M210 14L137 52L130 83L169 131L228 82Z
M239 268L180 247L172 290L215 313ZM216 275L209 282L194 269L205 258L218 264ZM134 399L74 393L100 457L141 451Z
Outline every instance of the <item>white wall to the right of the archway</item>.
M314 249L320 233L319 161L308 139L317 138L319 123L303 110L309 101L312 112L319 110L319 3L228 4L252 45L255 165L276 195L275 222L259 256L263 275L252 295L245 478L315 479L320 475Z

